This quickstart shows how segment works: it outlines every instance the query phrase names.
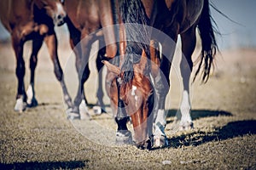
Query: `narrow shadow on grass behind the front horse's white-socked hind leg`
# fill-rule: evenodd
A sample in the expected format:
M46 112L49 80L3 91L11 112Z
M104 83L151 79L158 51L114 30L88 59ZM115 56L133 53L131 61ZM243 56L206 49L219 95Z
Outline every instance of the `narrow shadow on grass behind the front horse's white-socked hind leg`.
M179 110L169 110L167 112L167 117L174 117L176 115L180 115ZM209 117L209 116L233 116L232 113L228 111L209 111L209 110L192 110L191 111L191 118L192 120L196 120L202 117ZM170 123L172 121L167 121L166 123Z

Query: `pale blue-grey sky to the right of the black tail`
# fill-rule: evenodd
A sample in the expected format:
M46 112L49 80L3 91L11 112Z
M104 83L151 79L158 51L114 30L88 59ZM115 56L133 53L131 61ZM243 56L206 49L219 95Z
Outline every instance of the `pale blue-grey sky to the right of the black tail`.
M231 20L212 10L212 17L217 22L220 48L256 48L256 1L255 0L211 0L211 2Z

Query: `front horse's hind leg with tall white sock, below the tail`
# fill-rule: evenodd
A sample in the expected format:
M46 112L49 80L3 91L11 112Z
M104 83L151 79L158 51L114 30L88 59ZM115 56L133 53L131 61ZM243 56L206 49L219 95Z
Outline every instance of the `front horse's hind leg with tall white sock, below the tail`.
M193 122L190 116L191 105L189 99L189 78L193 68L191 56L195 50L195 26L189 28L188 31L181 35L183 57L180 64L181 75L183 77L183 98L180 105L181 120L180 129L193 128Z

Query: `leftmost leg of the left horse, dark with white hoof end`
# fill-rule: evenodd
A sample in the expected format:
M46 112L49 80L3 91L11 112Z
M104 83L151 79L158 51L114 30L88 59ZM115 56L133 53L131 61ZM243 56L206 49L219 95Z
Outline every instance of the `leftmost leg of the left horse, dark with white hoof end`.
M20 40L19 37L13 35L12 45L15 49L16 56L16 77L18 79L18 91L16 96L15 111L25 111L26 110L26 93L24 86L24 76L25 76L25 62L23 59L23 45L24 42Z

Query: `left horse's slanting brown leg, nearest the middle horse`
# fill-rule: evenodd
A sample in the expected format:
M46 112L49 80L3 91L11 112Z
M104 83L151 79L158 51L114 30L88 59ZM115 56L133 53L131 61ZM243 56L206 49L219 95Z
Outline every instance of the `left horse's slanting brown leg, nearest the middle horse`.
M57 38L55 33L44 37L44 41L49 50L49 55L54 64L55 77L59 82L61 82L61 88L63 92L64 101L67 104L68 108L73 106L72 99L67 92L66 83L64 81L63 71L61 69L60 61L57 55Z

